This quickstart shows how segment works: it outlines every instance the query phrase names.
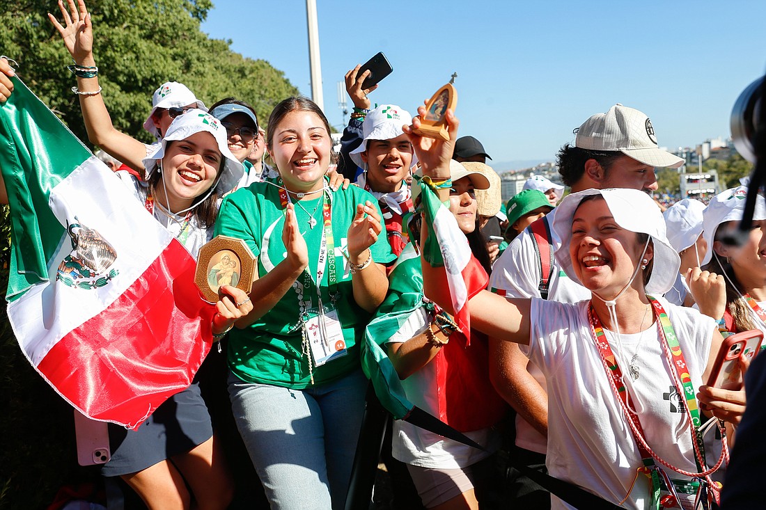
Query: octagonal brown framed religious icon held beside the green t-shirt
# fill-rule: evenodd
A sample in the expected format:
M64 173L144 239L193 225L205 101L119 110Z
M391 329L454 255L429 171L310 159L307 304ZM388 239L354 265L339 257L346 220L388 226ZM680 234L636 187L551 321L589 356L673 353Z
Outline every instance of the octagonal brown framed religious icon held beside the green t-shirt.
M231 285L250 292L255 256L244 240L216 236L199 250L195 283L207 302L217 302L221 286Z

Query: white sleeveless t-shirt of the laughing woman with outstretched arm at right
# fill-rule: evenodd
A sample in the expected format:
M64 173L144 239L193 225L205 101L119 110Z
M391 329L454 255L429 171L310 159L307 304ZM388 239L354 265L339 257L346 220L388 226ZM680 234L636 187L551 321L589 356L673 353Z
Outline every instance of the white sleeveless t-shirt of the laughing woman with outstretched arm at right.
M695 389L702 384L715 321L689 308L674 306L660 298L686 358ZM620 502L630 490L636 469L642 465L633 433L607 379L588 323L588 301L575 304L532 299L529 346L522 345L532 361L548 377L547 462L551 476L567 480L612 502ZM653 332L653 334L651 334ZM692 436L683 397L676 394L670 370L657 338L656 323L641 334L622 335L626 358L638 354L640 376L631 381L627 364L618 364L630 397L640 410L647 443L674 466L696 471ZM615 355L620 348L607 332ZM639 343L640 342L640 343ZM660 362L660 360L662 362ZM673 479L684 477L676 472ZM646 479L641 476L641 479ZM643 485L633 489L625 508L648 508ZM552 496L552 508L570 508Z

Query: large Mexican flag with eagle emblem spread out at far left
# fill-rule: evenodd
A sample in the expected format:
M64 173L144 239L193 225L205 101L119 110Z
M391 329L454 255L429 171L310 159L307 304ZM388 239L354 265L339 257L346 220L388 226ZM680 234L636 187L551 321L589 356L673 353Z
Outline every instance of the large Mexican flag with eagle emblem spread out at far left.
M214 306L195 260L24 83L0 106L11 206L8 318L87 417L135 429L191 384Z

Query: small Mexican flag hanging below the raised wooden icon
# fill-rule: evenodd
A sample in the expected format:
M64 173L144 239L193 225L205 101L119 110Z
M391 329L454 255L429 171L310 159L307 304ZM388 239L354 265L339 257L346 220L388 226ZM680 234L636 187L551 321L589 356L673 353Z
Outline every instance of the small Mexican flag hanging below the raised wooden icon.
M436 193L421 182L421 203L425 213L424 227L428 237L423 247L423 258L431 267L444 267L434 296L450 296L455 322L470 344L470 315L468 302L489 281L486 271L473 257L465 234L457 226L450 210L442 205ZM432 296L429 296L432 297ZM434 299L442 302L444 299Z

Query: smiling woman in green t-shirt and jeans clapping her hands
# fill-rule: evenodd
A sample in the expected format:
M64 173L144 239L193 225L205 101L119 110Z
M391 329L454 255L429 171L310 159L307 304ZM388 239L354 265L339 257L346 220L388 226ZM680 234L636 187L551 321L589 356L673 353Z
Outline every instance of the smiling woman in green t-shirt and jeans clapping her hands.
M319 107L289 98L268 126L279 177L228 195L216 224L258 254L254 311L229 336L229 394L271 508L342 508L365 409L358 341L394 257L375 198L329 187Z

